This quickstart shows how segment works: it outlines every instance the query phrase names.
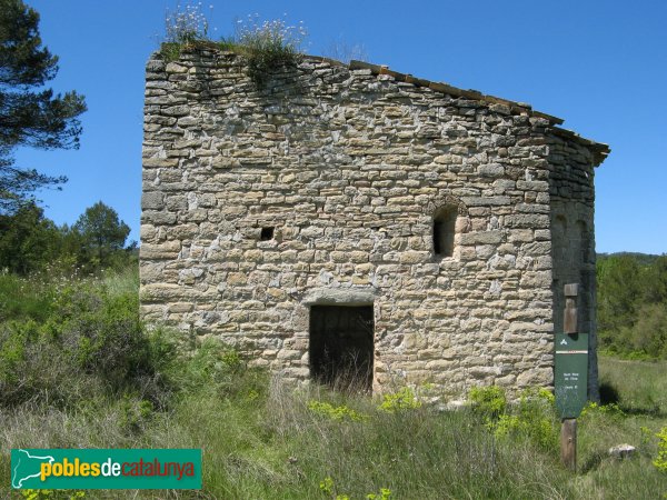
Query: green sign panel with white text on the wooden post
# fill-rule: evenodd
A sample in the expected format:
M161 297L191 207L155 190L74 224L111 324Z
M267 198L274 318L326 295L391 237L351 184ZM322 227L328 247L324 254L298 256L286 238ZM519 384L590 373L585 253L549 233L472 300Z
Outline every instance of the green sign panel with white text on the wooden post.
M561 419L576 419L588 400L588 333L556 333L554 389Z

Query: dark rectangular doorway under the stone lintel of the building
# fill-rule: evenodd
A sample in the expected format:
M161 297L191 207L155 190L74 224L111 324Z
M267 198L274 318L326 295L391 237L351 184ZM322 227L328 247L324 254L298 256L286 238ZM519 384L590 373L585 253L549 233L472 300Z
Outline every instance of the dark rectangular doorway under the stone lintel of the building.
M310 376L339 389L372 386L372 306L310 308Z

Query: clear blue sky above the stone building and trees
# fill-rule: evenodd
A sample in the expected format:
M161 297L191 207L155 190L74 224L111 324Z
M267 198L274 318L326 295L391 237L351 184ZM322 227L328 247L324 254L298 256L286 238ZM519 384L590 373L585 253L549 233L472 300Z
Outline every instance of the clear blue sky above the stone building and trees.
M60 57L51 87L87 98L77 151L21 149L17 160L66 174L47 216L72 223L98 200L139 239L143 69L176 0L26 0ZM209 9L212 4L213 9ZM667 252L667 2L664 0L209 1L218 34L236 18L303 21L307 52L337 41L417 77L529 102L609 143L597 170L599 252Z

